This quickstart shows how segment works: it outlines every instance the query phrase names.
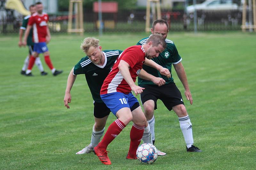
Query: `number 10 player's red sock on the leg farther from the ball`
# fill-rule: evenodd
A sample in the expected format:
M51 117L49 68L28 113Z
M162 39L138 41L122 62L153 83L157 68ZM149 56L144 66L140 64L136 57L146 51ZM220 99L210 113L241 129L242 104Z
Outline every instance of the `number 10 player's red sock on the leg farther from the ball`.
M125 128L125 124L121 122L119 119L116 119L108 127L106 134L104 135L104 137L102 138L99 144L99 148L107 149L108 144L110 144L124 128ZM142 132L142 135L143 135L143 132Z

